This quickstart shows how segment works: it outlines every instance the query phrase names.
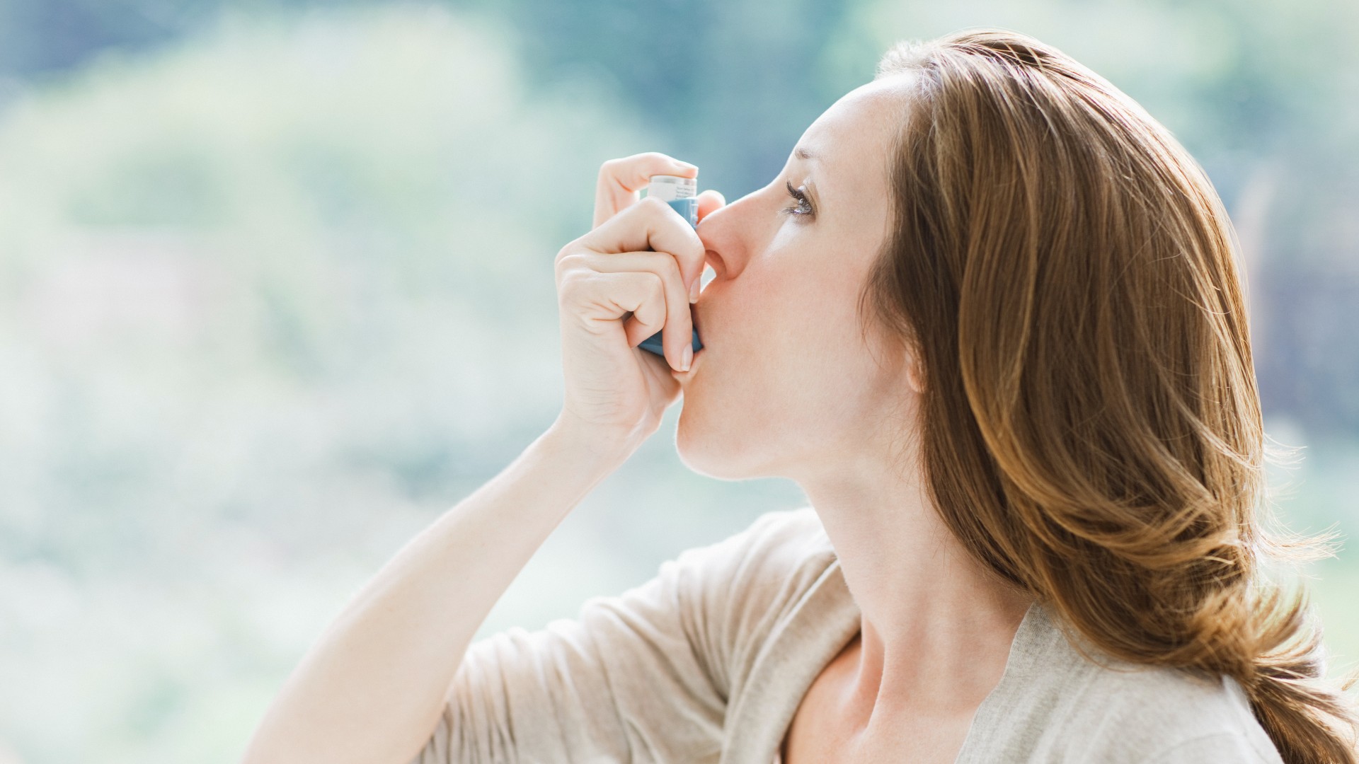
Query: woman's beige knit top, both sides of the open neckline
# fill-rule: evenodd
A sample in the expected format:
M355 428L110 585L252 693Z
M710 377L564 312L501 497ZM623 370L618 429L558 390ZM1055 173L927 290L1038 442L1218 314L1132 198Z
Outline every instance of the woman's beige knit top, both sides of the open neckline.
M811 507L760 515L576 620L467 650L412 764L779 764L811 681L859 609ZM1277 763L1230 678L1097 665L1034 605L958 763Z

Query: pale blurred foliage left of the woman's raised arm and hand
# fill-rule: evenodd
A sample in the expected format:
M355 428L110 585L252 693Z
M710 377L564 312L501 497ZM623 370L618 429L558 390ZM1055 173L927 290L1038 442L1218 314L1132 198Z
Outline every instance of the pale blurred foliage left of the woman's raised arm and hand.
M553 256L648 141L522 80L404 7L230 18L11 103L0 737L30 760L228 760L374 563L556 416Z

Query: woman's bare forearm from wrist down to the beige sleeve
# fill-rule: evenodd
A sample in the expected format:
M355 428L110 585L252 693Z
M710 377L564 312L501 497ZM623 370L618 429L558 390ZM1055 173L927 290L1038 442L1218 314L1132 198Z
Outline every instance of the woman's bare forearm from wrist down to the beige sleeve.
M595 446L554 426L402 546L288 677L245 763L409 761L487 613L626 458Z

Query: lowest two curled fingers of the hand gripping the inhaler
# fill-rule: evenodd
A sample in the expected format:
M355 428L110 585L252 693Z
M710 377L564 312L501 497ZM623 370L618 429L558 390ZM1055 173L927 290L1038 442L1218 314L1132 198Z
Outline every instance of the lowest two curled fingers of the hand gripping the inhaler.
M632 311L632 322L626 325L628 347L635 348L662 332L666 362L680 371L684 349L693 345L693 317L689 290L674 257L663 251L586 251L568 256L565 266L609 273L597 283L618 307Z

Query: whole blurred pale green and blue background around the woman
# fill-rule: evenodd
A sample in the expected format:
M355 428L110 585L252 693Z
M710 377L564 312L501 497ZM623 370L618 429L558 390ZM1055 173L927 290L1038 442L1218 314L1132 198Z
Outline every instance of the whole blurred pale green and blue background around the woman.
M0 1L0 763L235 761L412 536L552 423L552 258L601 162L728 200L898 38L1003 26L1109 77L1241 235L1294 530L1359 527L1359 4ZM711 277L711 273L709 273ZM678 406L478 638L771 508ZM1359 552L1303 571L1333 670Z

